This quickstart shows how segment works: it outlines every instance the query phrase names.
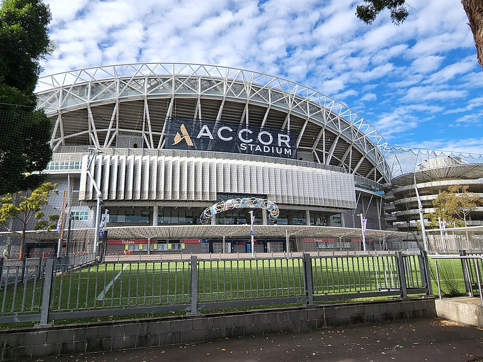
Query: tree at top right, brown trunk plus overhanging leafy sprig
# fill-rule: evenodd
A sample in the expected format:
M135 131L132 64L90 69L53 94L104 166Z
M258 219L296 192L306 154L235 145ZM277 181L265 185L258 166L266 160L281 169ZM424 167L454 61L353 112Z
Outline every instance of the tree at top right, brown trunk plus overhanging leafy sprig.
M483 68L483 1L461 0L461 4L473 33L478 63ZM406 0L364 0L357 6L356 16L364 23L372 24L384 9L390 11L392 23L396 25L402 24L409 15Z

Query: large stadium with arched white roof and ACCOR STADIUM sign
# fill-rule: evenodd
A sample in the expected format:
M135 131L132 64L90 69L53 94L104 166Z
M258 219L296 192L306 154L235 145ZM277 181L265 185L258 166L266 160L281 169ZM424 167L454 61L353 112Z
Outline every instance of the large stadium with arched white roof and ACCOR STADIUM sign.
M53 122L45 172L67 191L71 229L98 235L104 220L112 252L361 250L361 228L371 249L408 237L384 230L384 138L304 85L136 63L44 76L37 95ZM276 220L254 200L275 204ZM96 248L91 235L79 247Z

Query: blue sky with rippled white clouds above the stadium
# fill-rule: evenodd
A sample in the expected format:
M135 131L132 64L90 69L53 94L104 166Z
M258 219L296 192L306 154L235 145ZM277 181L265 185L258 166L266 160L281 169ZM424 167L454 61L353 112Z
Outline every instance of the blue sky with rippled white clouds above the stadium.
M46 0L58 50L41 75L193 62L282 76L357 111L395 146L483 154L483 71L458 0L413 0L397 27L362 0Z

